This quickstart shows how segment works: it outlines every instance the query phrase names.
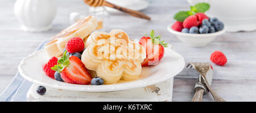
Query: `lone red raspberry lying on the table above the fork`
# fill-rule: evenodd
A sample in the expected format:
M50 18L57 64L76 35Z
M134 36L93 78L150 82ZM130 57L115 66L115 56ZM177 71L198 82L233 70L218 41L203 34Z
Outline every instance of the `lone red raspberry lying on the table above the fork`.
M226 56L221 51L214 51L210 55L210 60L219 66L224 66L227 62Z

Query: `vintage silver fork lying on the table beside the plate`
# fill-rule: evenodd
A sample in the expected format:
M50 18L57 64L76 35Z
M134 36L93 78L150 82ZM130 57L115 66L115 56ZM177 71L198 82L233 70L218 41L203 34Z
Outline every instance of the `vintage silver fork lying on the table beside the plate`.
M225 99L221 98L208 84L208 81L205 77L207 72L210 69L209 63L188 63L187 68L194 68L197 72L200 73L201 77L203 78L205 85L207 86L209 92L212 94L215 102L226 102Z

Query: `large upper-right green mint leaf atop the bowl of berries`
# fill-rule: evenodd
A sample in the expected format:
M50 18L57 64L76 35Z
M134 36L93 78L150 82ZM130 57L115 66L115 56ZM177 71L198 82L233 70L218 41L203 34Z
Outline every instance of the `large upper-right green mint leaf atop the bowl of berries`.
M210 9L210 5L208 3L204 3L204 2L203 3L197 3L195 6L191 6L191 11L193 11L195 13L205 12L205 11L208 11L209 9Z

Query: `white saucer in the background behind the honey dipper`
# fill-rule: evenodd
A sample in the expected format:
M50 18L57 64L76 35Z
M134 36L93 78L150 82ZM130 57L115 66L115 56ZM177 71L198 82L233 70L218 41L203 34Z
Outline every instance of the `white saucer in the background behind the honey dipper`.
M130 10L141 11L149 6L149 3L144 0L130 0L130 1L120 1L120 0L108 0L108 2L113 3L115 5L128 8ZM114 8L106 7L110 12L119 12L119 10L115 10Z

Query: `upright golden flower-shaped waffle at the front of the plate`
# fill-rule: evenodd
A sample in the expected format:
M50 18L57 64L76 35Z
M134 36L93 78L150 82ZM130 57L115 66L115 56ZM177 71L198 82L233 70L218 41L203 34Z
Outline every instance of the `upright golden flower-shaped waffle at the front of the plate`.
M144 48L117 29L110 33L92 33L81 56L85 67L96 71L105 84L114 84L120 79L137 79L141 75L141 63L145 58Z

